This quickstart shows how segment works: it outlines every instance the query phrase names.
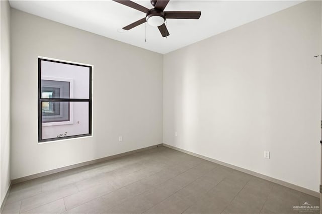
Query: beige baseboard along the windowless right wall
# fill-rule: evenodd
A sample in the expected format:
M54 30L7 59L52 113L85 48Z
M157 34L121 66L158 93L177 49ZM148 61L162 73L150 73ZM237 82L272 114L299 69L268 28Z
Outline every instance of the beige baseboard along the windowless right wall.
M241 168L241 167L238 167L238 166L234 166L234 165L231 165L231 164L228 164L228 163L224 163L222 161L218 161L216 159L212 159L212 158L209 158L209 157L206 157L206 156L203 156L203 155L199 155L199 154L196 154L196 153L193 153L193 152L189 152L187 150L180 149L178 147L171 146L171 145L168 145L168 144L165 144L165 143L163 144L163 146L171 148L171 149L174 149L174 150L177 150L177 151L180 151L180 152L184 152L186 154L189 154L189 155L192 155L192 156L195 156L195 157L198 157L198 158L202 158L202 159L207 160L207 161L211 161L211 162L216 163L216 164L220 164L222 166L229 167L231 169L234 169L234 170L237 170L237 171L240 171L240 172L245 172L247 174L250 174L250 175L253 175L253 176L268 180L268 181L271 181L273 183L277 183L277 184L282 185L282 186L286 186L288 188L303 192L305 194L312 195L314 197L318 197L318 198L320 197L320 193L318 193L318 192L315 192L313 190L310 190L310 189L307 189L307 188L304 188L304 187L301 187L301 186L297 186L297 185L292 184L292 183L288 183L286 181L278 180L276 178L272 178L272 177L269 177L267 175L260 174L258 172L254 172L254 171L251 171L251 170L248 170L248 169L244 169L244 168Z

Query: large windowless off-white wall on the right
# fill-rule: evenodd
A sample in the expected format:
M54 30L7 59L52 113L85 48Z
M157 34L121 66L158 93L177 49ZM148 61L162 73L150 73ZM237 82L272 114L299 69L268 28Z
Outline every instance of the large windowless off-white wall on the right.
M320 4L166 54L164 143L318 191Z

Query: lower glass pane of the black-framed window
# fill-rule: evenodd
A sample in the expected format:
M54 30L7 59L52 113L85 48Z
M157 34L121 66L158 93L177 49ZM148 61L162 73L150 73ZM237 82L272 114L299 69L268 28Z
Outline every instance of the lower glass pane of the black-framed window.
M42 101L42 107L42 139L89 134L89 102Z

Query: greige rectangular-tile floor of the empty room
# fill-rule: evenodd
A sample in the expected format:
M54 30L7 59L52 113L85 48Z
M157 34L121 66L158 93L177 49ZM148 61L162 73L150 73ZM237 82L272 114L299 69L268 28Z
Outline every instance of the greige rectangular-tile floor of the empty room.
M12 186L3 213L318 213L318 198L158 147Z

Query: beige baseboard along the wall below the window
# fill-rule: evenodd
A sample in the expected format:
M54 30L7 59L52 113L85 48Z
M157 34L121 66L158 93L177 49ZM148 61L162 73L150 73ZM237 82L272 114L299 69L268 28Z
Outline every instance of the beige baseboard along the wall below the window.
M37 173L37 174L28 175L28 176L25 176L25 177L13 179L11 181L11 183L12 184L21 183L21 182L24 182L24 181L27 181L27 180L32 180L32 179L43 177L43 176L46 176L46 175L55 174L55 173L58 173L58 172L69 170L69 169L75 169L75 168L78 168L78 167L87 166L87 165L91 165L91 164L111 160L111 159L114 159L114 158L123 157L125 155L130 155L130 154L134 154L134 153L137 153L137 152L146 151L146 150L153 149L153 148L156 148L156 147L159 147L159 146L162 146L162 144L148 146L148 147L145 147L145 148L136 149L136 150L132 150L132 151L116 154L116 155L111 155L111 156L104 157L104 158L99 158L99 159L95 159L95 160L91 160L91 161L77 163L77 164L70 165L70 166L61 167L61 168L58 168L58 169L53 169L53 170L49 170L49 171L45 171L45 172L40 172L40 173Z

